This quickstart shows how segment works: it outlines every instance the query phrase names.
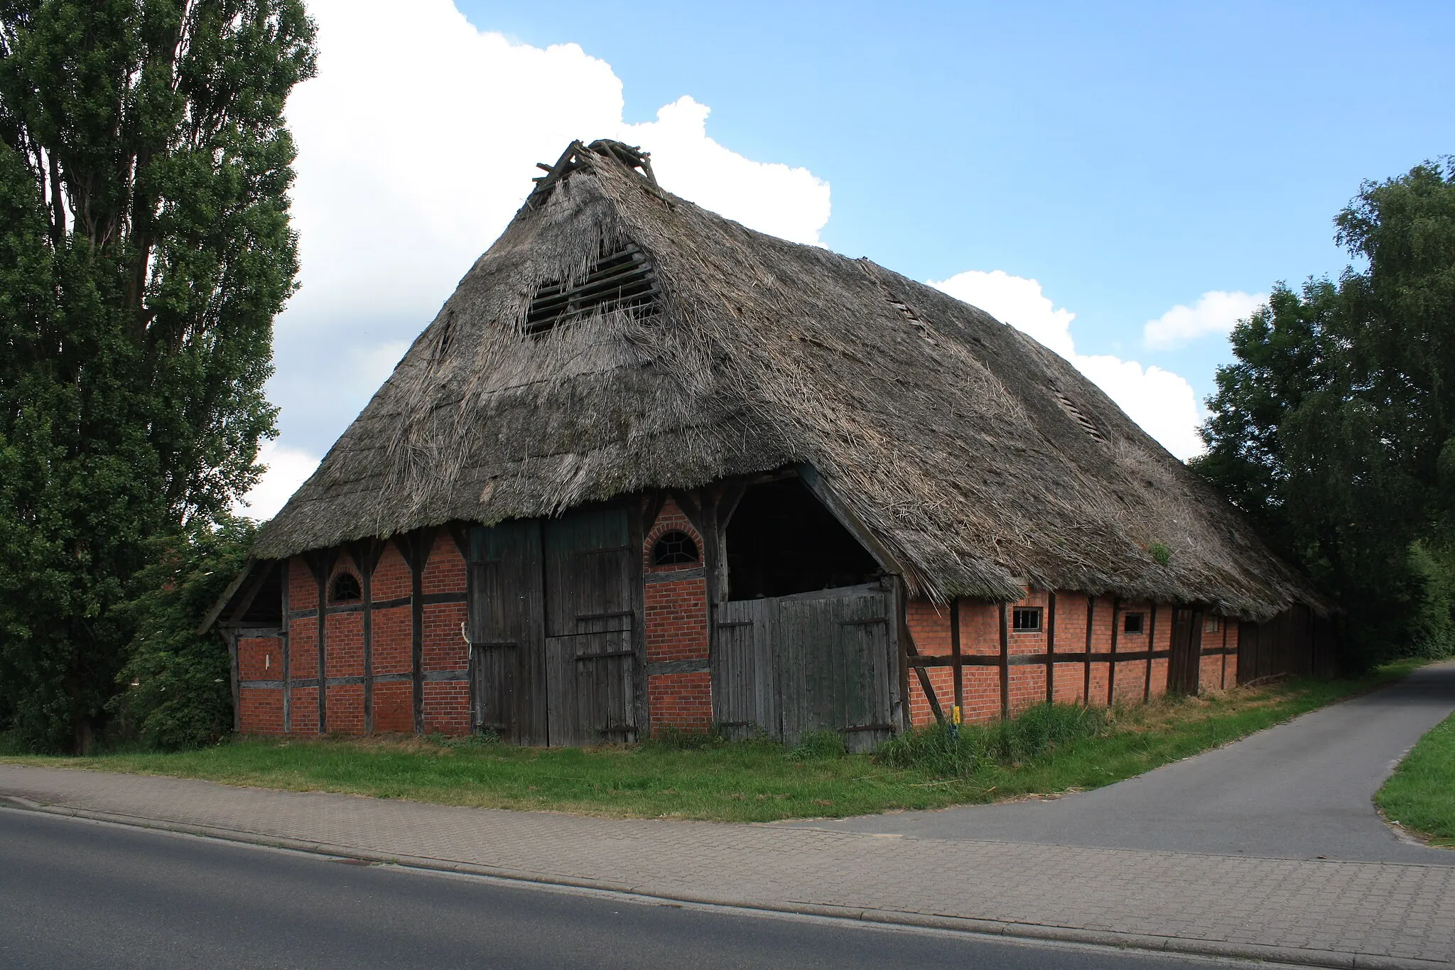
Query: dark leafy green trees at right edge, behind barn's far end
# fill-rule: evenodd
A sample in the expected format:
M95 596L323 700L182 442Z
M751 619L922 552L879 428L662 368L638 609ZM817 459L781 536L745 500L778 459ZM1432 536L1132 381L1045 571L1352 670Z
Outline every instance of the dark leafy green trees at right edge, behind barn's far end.
M1234 329L1193 467L1339 599L1347 660L1448 652L1455 161L1365 183L1336 225L1362 269Z

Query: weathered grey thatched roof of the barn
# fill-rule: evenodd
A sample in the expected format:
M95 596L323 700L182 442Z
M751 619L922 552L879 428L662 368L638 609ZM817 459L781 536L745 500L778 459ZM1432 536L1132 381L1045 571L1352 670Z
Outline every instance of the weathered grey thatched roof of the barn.
M1320 605L1232 506L1032 337L662 192L634 159L605 143L563 156L256 556L805 462L937 601L1016 599L1030 583L1259 620ZM524 333L541 286L626 244L650 263L653 316Z

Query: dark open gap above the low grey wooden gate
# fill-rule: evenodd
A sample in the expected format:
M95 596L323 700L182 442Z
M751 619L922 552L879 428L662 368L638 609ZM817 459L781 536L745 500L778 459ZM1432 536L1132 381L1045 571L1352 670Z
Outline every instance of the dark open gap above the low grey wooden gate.
M728 598L872 582L879 564L799 478L752 486L728 524Z

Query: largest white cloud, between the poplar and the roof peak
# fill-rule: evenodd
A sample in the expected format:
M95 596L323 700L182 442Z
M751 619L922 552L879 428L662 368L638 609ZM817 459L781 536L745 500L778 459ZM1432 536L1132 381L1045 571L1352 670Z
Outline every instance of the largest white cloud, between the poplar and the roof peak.
M308 4L319 76L288 102L303 288L276 321L269 384L291 454L323 454L343 432L505 228L535 163L573 138L639 144L663 188L819 243L828 183L719 144L706 105L681 97L629 125L621 80L579 45L479 31L453 0L407 6L400 16L397 0ZM256 494L253 513L268 505Z

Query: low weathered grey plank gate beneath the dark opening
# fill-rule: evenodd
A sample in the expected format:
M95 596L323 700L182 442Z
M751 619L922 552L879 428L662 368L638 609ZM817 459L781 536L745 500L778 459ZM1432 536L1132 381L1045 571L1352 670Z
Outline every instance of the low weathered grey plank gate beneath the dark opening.
M877 585L719 604L713 720L796 743L835 730L851 750L892 730L892 598Z

